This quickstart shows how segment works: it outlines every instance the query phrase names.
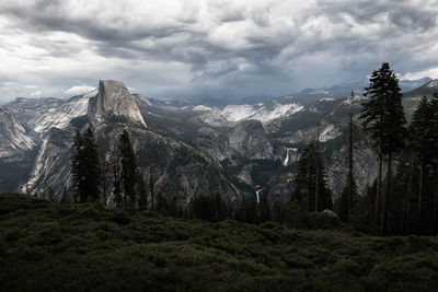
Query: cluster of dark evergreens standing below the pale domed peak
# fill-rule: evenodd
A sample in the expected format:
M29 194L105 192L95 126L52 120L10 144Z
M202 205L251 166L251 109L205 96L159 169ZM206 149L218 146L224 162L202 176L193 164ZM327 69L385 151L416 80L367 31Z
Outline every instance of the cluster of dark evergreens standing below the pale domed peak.
M101 201L119 209L146 210L146 183L136 163L136 155L126 130L110 157L100 159L97 144L89 128L76 132L71 159L72 187L76 202ZM65 195L62 195L61 201ZM68 195L66 195L68 197Z

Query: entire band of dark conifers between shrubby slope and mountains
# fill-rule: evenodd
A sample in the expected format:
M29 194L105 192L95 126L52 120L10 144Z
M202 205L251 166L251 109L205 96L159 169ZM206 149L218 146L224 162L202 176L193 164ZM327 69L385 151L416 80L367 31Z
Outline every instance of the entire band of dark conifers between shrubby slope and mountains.
M155 194L152 171L146 179L147 174L137 167L126 130L105 159L99 157L91 129L83 135L77 131L71 163L73 198L214 222L234 219L260 224L273 220L291 227L331 227L339 225L338 214L344 223L371 234L437 234L438 94L423 97L407 125L399 80L389 63L383 63L372 72L365 96L368 101L358 121L354 119L353 93L349 100L346 186L336 201L327 186L319 129L301 153L287 202L269 201L263 192L233 201L216 192L195 195L191 201ZM377 178L364 190L353 175L356 124L372 141L378 157Z

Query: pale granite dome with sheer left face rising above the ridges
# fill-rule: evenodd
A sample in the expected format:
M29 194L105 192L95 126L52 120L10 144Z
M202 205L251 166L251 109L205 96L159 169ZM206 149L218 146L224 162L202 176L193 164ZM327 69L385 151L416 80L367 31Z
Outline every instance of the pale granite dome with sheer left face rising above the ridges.
M95 97L90 98L88 116L94 124L105 115L125 116L146 127L136 98L122 81L100 80Z

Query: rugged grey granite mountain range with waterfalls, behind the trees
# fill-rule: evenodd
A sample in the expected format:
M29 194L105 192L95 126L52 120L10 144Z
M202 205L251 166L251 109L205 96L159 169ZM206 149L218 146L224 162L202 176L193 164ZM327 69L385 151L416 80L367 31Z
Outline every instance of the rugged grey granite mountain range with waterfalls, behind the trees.
M429 78L400 84L408 116L419 96L438 91L438 80ZM105 80L95 91L69 100L16 98L0 107L0 191L42 197L53 190L59 200L71 186L74 132L92 127L102 161L111 160L118 137L128 130L147 183L152 178L155 191L182 202L206 192L234 200L254 196L256 188L272 200L286 200L296 162L315 139L319 121L327 182L336 196L346 172L346 96L354 92L357 117L367 85L362 80L274 100L222 104L147 98L131 94L120 81ZM357 141L354 173L364 188L376 176L376 159L364 133Z

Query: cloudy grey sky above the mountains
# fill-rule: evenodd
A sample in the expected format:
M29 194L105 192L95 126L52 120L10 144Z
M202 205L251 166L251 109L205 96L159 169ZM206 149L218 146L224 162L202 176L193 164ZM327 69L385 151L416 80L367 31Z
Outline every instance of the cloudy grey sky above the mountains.
M0 103L123 81L155 98L281 96L390 62L438 78L436 0L0 0Z

